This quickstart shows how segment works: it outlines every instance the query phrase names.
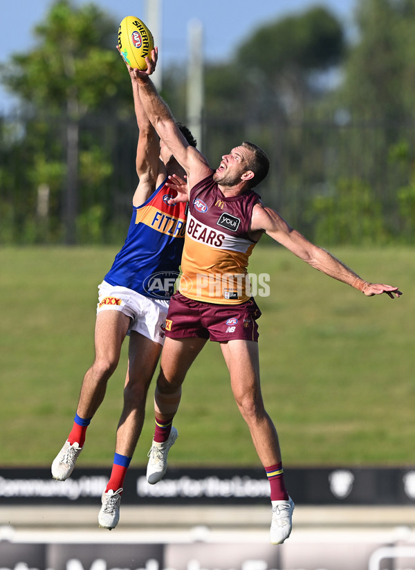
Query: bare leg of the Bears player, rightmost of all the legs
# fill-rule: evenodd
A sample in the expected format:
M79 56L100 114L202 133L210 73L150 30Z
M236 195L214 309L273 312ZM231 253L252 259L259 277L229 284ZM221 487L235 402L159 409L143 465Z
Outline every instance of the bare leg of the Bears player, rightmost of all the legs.
M230 372L235 401L248 424L252 442L264 467L281 461L277 430L266 413L259 381L258 343L250 340L221 342Z

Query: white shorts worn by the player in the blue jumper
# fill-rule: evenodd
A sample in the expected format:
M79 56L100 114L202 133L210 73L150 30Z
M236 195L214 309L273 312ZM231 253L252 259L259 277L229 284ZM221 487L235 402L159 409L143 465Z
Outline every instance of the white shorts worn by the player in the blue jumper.
M136 293L127 287L103 281L98 286L97 315L101 311L121 311L131 318L128 333L136 331L154 342L164 344L169 301Z

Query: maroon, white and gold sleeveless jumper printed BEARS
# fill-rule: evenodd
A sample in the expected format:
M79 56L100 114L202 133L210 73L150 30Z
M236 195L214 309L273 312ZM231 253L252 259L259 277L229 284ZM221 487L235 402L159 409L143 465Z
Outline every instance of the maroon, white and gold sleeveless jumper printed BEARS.
M260 196L248 190L223 196L213 175L192 187L179 291L190 299L239 304L250 298L248 235L252 208Z

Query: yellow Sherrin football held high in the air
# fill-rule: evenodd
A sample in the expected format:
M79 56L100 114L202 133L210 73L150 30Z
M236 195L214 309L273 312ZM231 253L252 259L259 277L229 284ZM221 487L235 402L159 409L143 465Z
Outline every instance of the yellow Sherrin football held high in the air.
M151 58L154 39L145 23L135 16L126 16L118 28L118 47L129 66L147 69L145 57Z

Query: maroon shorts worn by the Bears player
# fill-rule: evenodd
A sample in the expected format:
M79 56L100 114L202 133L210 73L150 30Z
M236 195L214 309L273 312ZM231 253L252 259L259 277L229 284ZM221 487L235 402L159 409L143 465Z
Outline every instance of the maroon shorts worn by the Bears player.
M261 316L255 300L238 305L203 303L174 293L170 299L166 319L169 338L210 338L216 342L227 340L258 341L257 319Z

